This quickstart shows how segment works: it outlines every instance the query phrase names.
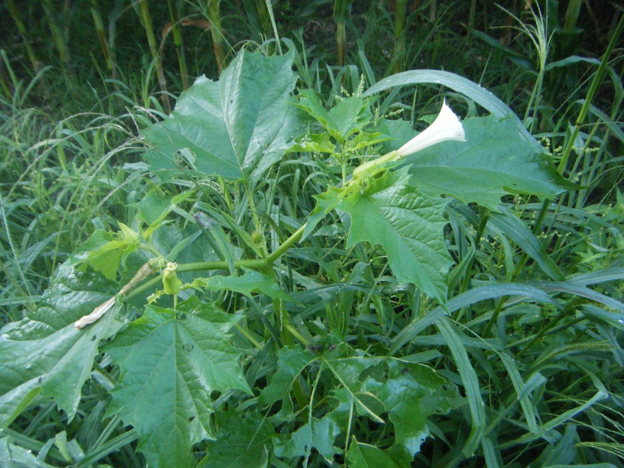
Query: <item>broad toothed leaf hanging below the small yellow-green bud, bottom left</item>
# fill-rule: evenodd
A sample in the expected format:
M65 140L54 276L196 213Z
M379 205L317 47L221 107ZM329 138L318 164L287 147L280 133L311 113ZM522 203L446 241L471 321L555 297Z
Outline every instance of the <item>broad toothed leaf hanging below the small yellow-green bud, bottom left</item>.
M211 392L251 393L228 334L240 318L196 298L177 312L147 306L106 347L122 369L109 412L139 432L150 466L195 466L192 444L214 438Z

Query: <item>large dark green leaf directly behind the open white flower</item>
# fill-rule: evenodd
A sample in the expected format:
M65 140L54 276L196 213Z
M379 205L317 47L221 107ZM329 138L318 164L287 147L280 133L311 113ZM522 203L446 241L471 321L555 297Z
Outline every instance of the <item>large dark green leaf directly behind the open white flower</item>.
M527 142L511 116L472 117L462 122L465 142L442 142L406 158L411 183L437 197L452 195L497 211L505 193L553 197L576 188L544 151Z

